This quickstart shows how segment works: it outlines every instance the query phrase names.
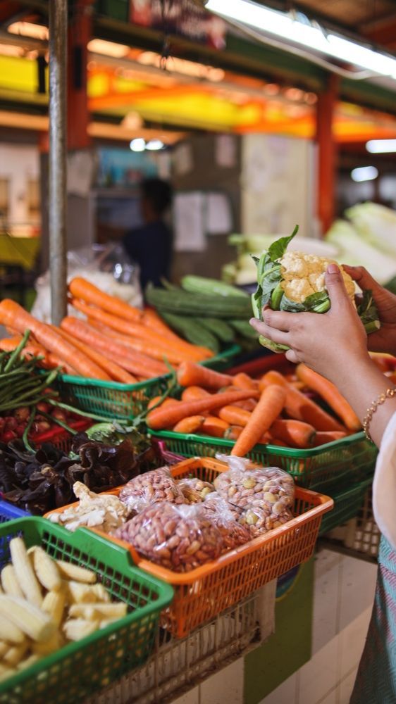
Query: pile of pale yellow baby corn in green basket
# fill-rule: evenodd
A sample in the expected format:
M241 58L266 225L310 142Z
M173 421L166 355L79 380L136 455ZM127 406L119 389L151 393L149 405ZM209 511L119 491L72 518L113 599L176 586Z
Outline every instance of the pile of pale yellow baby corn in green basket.
M20 537L10 553L0 575L1 680L126 615L127 604L111 602L91 570L54 560L40 546L27 550Z

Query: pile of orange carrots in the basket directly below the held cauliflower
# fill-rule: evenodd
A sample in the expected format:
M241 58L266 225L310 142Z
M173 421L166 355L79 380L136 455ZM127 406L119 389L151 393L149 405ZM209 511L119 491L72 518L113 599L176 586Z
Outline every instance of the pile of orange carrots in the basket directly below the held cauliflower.
M177 371L180 400L151 399L147 425L235 441L233 455L256 444L313 448L361 429L359 418L338 389L304 364L291 374L269 370L258 379L244 372L221 374L193 362ZM334 415L314 398L326 401ZM314 392L314 394L312 394Z

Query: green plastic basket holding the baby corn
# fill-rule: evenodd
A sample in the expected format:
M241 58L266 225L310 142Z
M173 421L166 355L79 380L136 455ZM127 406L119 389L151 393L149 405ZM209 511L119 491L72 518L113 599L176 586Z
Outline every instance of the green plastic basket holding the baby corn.
M147 660L159 614L173 589L137 567L130 553L84 528L70 533L44 518L20 518L0 526L0 566L9 561L9 541L22 536L56 559L89 567L117 601L128 603L118 621L1 681L1 704L72 704L103 689Z

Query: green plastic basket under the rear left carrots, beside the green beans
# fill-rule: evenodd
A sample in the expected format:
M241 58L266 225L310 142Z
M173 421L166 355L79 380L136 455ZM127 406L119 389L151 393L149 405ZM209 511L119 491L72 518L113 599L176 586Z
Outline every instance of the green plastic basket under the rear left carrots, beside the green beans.
M240 349L239 345L233 345L202 364L211 369L226 369L233 363ZM163 394L170 378L171 375L166 374L139 384L120 384L62 375L58 379L57 388L63 401L76 408L112 420L132 420L147 407L150 398Z

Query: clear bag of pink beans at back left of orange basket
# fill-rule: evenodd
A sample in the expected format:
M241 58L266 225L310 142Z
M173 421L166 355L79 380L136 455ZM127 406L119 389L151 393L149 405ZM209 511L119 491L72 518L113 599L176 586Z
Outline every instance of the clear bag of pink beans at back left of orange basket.
M186 503L182 490L176 484L169 467L159 467L130 479L120 491L120 501L128 510L139 513L151 503L168 501L168 503Z

